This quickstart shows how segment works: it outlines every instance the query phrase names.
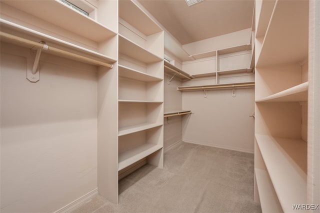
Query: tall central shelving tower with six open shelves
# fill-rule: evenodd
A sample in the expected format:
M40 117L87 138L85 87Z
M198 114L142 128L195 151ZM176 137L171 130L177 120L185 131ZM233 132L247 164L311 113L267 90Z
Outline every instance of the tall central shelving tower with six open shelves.
M163 30L119 0L118 179L145 163L163 167Z

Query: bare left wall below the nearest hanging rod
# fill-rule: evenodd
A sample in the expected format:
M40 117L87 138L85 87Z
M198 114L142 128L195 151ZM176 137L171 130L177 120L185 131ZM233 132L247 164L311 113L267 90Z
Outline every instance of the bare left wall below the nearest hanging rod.
M4 53L5 52L5 53ZM51 212L96 188L96 67L1 43L1 211Z

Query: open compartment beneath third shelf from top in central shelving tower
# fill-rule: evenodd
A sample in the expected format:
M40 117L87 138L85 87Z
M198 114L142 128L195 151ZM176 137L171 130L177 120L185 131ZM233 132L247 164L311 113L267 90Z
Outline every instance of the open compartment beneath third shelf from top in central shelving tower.
M119 77L118 97L126 100L141 100L162 102L162 81L140 81L131 78Z

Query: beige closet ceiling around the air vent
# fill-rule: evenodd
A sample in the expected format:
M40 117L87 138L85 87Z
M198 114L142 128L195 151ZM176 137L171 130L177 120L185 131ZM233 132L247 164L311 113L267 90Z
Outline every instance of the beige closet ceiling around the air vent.
M181 44L245 28L252 23L254 0L138 0Z

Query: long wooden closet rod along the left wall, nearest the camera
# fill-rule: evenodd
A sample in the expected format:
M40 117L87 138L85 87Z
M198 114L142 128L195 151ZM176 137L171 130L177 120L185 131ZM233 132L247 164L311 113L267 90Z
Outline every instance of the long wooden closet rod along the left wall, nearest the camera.
M68 51L65 51L65 50L62 50L62 49L58 49L58 48L55 48L55 47L52 47L52 46L47 46L46 44L38 43L38 42L29 40L29 39L25 39L25 38L22 38L22 37L19 37L19 36L16 36L16 35L12 35L12 34L9 34L9 33L6 33L6 32L0 31L0 36L4 37L6 39L9 39L11 41L16 41L16 42L20 42L20 43L27 44L27 45L32 45L32 46L35 46L37 48L41 48L43 50L46 50L48 52L52 52L52 53L55 53L55 54L58 54L58 55L65 55L65 56L71 57L71 58L76 59L76 60L85 61L85 62L93 63L93 64L96 64L96 65L106 66L108 68L112 68L113 67L112 64L109 64L109 63L105 63L105 62L102 62L102 61L99 61L99 60L95 60L95 59L92 59L92 58L89 58L89 57L85 57L85 56L82 56L82 55L79 55L79 54L68 52Z

